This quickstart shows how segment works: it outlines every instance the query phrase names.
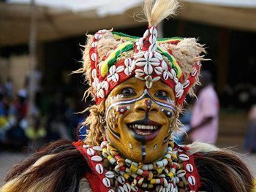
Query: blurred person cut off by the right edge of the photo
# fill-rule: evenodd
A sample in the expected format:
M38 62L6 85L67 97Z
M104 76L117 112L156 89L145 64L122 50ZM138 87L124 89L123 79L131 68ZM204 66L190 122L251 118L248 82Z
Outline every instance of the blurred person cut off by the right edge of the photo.
M244 149L249 153L256 153L256 104L249 110L248 121Z

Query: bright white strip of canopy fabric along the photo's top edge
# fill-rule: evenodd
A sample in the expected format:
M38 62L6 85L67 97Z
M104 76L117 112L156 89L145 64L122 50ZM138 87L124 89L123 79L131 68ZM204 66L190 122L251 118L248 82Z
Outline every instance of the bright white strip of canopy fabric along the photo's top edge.
M225 7L256 7L255 0L184 0L192 3L212 4ZM29 4L30 0L7 0L8 3ZM142 0L36 0L38 6L69 9L73 12L97 9L99 16L116 15L141 4Z

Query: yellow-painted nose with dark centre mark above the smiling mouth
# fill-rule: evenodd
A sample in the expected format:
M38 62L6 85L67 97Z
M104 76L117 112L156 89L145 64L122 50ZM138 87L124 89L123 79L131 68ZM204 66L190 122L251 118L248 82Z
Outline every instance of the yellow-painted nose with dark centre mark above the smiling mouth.
M141 99L135 103L136 112L157 112L159 110L158 104L151 99Z

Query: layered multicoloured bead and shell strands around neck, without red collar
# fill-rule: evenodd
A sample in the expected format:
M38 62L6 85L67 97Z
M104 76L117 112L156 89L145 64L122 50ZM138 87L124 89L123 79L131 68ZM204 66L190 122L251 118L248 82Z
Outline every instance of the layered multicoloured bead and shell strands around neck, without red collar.
M94 146L87 149L87 153L91 150L100 150L102 152L102 160L108 160L110 170L105 172L103 184L113 191L178 191L178 185L184 189L187 188L187 180L185 178L186 171L180 157L178 158L178 150L173 150L174 142L170 141L167 147L167 153L162 160L154 164L142 164L131 161L128 158L122 158L116 148L107 141L103 141L100 148ZM100 174L104 172L102 166L96 166L96 171ZM115 181L117 180L117 182ZM111 184L114 186L112 187Z

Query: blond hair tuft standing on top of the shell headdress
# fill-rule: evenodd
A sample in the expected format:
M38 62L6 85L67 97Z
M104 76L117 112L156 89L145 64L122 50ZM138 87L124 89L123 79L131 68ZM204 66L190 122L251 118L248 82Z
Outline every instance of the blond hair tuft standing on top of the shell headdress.
M143 4L143 12L146 15L149 26L157 26L161 20L176 14L179 4L176 0L146 0Z

